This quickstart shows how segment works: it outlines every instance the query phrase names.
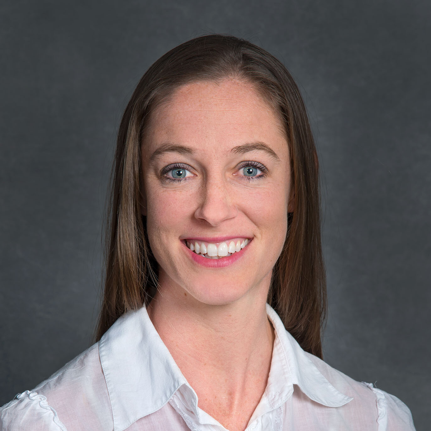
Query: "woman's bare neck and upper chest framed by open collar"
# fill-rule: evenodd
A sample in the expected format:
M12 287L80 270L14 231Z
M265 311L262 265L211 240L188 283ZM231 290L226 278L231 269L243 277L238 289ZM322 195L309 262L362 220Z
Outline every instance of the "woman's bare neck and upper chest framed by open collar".
M274 342L266 294L208 305L167 288L148 307L156 331L196 391L200 408L228 429L245 428L265 391ZM229 418L242 422L234 424Z

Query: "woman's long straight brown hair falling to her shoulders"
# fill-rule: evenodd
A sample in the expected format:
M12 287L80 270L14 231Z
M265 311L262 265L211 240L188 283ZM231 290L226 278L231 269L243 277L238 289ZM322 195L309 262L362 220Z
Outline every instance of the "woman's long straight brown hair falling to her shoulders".
M306 109L283 64L248 41L210 34L187 41L158 59L139 81L119 128L106 228L106 274L97 340L128 310L147 305L157 286L140 208L140 147L153 109L181 85L237 78L251 82L281 116L290 146L294 211L275 264L268 302L301 347L322 357L326 313L320 239L319 175Z

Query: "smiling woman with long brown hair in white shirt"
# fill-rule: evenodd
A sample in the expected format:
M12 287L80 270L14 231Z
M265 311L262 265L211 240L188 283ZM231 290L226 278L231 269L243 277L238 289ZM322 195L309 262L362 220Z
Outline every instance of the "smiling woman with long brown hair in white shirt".
M318 162L277 59L209 35L156 61L111 199L98 342L3 406L2 429L414 429L320 359Z

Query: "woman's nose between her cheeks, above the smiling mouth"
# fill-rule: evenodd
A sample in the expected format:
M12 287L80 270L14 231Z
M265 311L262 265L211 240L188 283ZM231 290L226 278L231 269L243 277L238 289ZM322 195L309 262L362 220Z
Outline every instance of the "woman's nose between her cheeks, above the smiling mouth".
M206 181L200 191L200 203L194 213L196 219L204 220L211 226L218 226L236 217L238 210L233 196L223 181Z

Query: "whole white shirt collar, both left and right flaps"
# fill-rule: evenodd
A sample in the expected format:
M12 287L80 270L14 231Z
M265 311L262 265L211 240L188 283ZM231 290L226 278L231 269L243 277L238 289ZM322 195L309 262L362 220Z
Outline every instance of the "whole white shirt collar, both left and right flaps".
M272 409L291 396L294 384L311 400L324 406L343 406L352 400L319 372L268 304L266 311L276 333L265 390ZM197 395L159 337L145 307L117 319L100 339L99 355L111 401L114 431L123 431L138 419L161 409L180 387L184 402L199 416Z

